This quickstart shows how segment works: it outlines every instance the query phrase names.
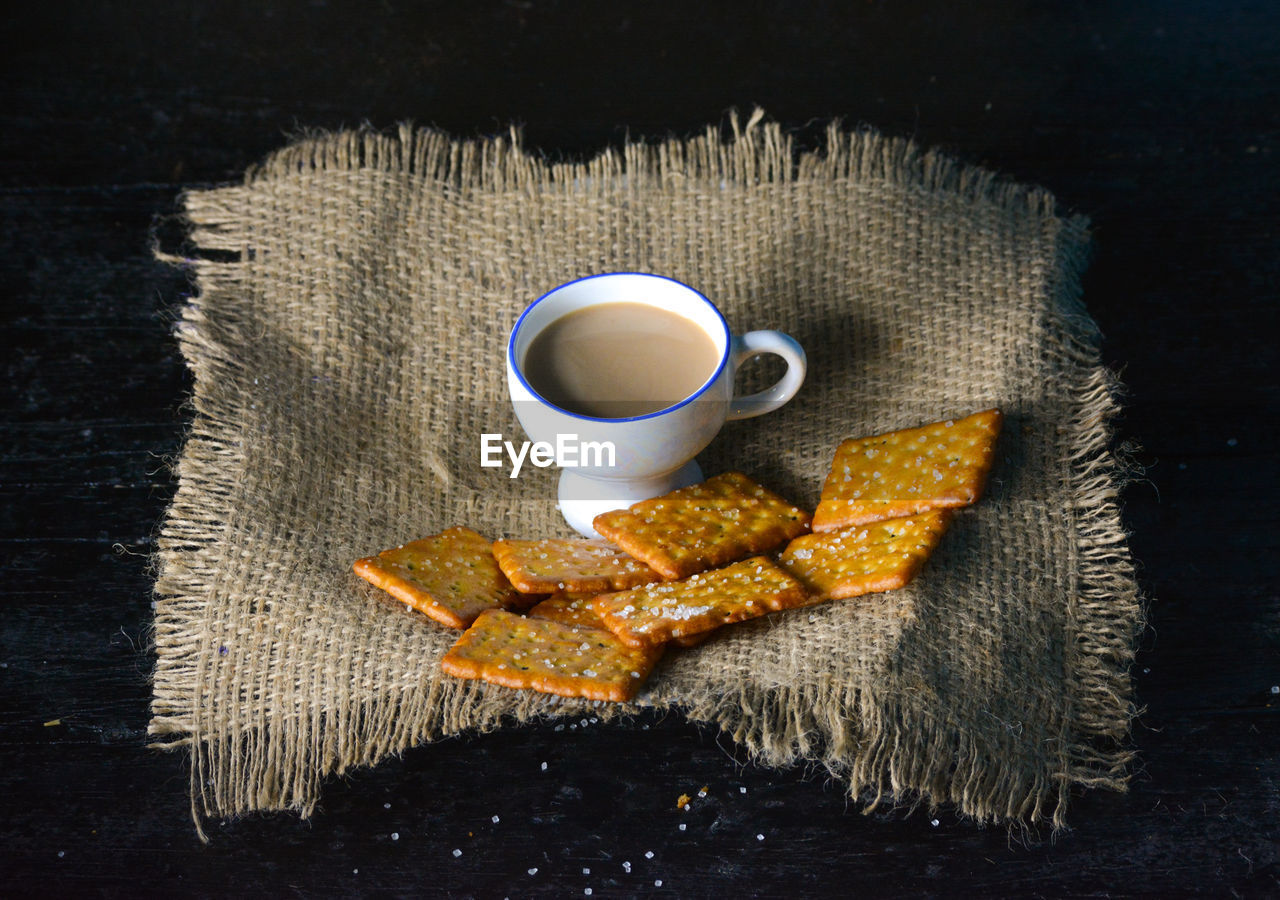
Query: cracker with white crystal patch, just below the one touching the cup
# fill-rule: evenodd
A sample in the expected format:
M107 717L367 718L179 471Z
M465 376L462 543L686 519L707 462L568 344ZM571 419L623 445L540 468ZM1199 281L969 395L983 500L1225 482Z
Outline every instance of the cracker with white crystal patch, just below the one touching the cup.
M631 647L662 644L777 609L804 606L804 585L758 556L684 581L600 594L591 608Z

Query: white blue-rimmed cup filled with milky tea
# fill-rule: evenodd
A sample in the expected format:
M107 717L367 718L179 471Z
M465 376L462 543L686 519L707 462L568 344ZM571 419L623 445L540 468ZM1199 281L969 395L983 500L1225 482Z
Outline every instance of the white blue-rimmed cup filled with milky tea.
M776 353L771 388L733 396L739 366ZM561 467L559 508L580 534L591 520L703 480L694 457L726 420L778 408L799 390L794 338L732 334L705 296L646 273L589 275L535 300L507 342L507 387L535 449Z

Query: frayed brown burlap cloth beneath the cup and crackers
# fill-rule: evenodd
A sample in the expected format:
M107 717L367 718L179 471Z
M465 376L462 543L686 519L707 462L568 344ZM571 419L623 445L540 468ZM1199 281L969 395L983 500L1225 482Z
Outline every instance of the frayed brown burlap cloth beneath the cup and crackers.
M443 676L457 634L351 563L458 524L567 534L556 471L481 469L479 435L524 440L503 376L521 309L609 270L672 275L736 332L808 350L800 393L727 425L709 474L812 508L842 438L1007 416L987 497L911 586L669 653L639 705L826 766L864 805L1059 826L1073 786L1124 787L1140 602L1114 385L1080 301L1087 223L1046 192L838 125L799 152L756 113L585 164L517 133L325 134L186 213L195 421L159 545L151 732L189 750L197 824L306 816L353 766L581 714Z

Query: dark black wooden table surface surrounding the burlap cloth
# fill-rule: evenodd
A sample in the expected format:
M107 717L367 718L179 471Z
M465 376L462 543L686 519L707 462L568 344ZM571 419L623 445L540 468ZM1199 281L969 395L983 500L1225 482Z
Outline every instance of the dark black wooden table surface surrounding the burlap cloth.
M0 41L0 892L1280 894L1276 4L45 3ZM581 157L755 104L810 146L869 123L1092 216L1085 300L1140 447L1132 790L1011 840L863 816L668 717L448 740L202 845L186 760L146 749L191 388L189 285L150 243L179 192L305 128L515 122Z

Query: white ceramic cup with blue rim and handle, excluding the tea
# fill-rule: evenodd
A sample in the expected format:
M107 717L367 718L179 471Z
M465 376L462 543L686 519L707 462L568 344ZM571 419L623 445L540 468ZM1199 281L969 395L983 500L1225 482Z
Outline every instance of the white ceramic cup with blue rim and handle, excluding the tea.
M644 303L689 319L716 344L719 361L714 371L682 401L628 419L584 416L543 399L524 370L530 344L561 316L600 303ZM733 375L759 353L781 356L786 374L767 390L735 397ZM645 273L589 275L548 291L521 314L507 342L507 387L516 417L531 442L557 448L559 508L586 536L598 536L591 520L602 512L701 481L694 457L724 421L778 408L795 396L804 376L804 350L794 338L781 332L733 335L721 311L701 293ZM599 452L605 444L613 449L612 461Z

